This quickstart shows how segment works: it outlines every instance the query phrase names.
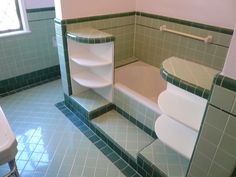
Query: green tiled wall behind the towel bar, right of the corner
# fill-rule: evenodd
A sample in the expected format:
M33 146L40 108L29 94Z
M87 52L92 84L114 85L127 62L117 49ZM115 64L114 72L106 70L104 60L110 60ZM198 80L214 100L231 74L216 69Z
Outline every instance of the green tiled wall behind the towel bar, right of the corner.
M200 36L212 35L211 44L162 32L161 25ZM222 70L228 51L231 34L187 26L168 20L136 15L135 57L160 67L163 60L177 56Z

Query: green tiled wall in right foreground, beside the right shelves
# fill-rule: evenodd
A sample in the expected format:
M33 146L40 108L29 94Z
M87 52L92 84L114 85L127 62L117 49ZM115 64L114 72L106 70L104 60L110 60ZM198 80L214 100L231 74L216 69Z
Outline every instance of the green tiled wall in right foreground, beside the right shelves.
M231 176L236 164L236 81L215 77L188 177Z

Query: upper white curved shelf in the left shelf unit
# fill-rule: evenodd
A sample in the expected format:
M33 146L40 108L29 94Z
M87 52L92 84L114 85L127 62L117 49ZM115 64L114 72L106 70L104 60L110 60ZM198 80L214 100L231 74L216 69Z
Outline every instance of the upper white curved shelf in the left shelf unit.
M86 67L106 66L112 64L112 60L105 60L92 53L79 57L72 56L71 60L80 66Z

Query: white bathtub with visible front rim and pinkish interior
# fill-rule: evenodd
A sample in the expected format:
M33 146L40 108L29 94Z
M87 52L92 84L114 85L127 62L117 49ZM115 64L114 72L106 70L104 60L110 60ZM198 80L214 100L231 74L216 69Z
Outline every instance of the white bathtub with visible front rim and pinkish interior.
M166 81L160 70L138 61L115 70L115 89L161 113L157 104L158 95L166 89Z

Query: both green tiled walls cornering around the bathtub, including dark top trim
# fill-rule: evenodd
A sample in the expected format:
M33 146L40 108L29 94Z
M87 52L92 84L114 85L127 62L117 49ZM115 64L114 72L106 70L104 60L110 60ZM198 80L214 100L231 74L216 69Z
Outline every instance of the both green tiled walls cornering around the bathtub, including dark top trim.
M94 27L113 34L115 40L115 63L127 63L138 58L160 67L161 62L171 56L191 60L221 70L228 51L232 30L193 22L161 17L140 12L113 14L66 20L67 30L79 27ZM207 36L212 35L211 44L161 32L159 27Z

